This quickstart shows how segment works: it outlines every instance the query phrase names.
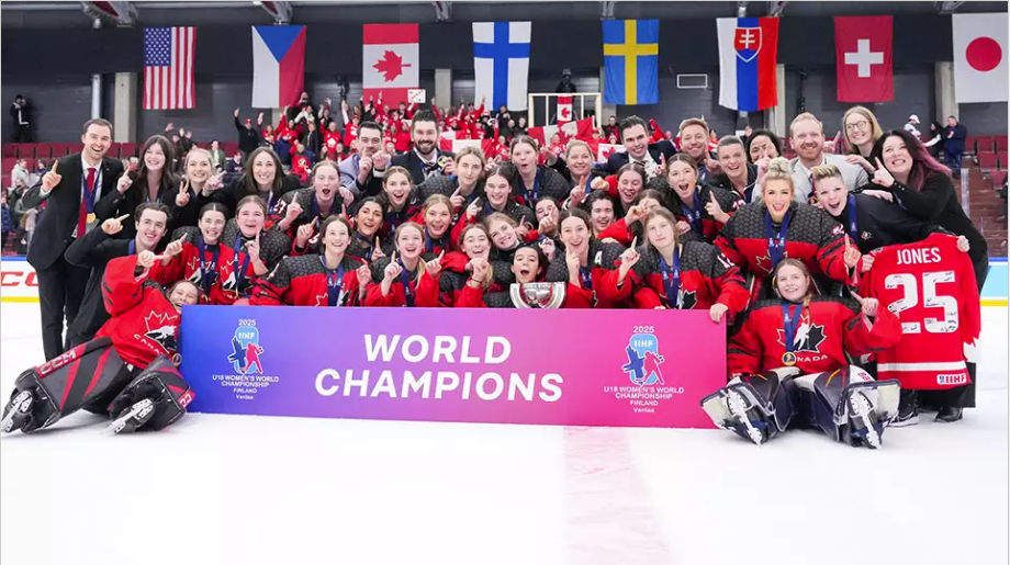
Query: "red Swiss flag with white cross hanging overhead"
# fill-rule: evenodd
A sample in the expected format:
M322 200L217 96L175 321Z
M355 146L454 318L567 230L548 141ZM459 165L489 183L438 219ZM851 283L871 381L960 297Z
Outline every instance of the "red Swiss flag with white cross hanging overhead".
M895 99L894 21L889 15L834 19L839 102Z

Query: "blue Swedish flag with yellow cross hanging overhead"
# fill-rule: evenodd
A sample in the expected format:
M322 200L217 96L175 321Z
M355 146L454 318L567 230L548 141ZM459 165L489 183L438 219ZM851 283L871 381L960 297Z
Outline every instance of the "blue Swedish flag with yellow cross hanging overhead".
M603 58L605 104L656 104L659 86L660 21L605 20Z

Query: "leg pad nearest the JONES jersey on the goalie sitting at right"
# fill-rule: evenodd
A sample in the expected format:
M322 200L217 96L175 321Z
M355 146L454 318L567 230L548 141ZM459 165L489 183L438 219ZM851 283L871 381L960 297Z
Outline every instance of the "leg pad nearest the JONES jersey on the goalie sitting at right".
M804 375L796 385L810 421L828 437L853 447L879 448L884 428L898 414L898 381L874 381L854 365Z

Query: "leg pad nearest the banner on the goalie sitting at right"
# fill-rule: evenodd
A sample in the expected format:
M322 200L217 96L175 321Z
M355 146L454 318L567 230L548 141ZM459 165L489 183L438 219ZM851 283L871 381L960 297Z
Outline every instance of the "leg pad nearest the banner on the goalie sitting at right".
M798 371L781 369L733 378L702 399L702 408L716 426L756 444L784 432L793 419L792 377Z

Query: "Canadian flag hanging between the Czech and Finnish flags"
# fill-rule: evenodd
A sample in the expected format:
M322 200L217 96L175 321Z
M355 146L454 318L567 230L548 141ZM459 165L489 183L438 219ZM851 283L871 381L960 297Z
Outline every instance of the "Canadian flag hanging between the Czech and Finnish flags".
M394 106L406 102L420 82L417 24L366 24L362 52L363 95Z

